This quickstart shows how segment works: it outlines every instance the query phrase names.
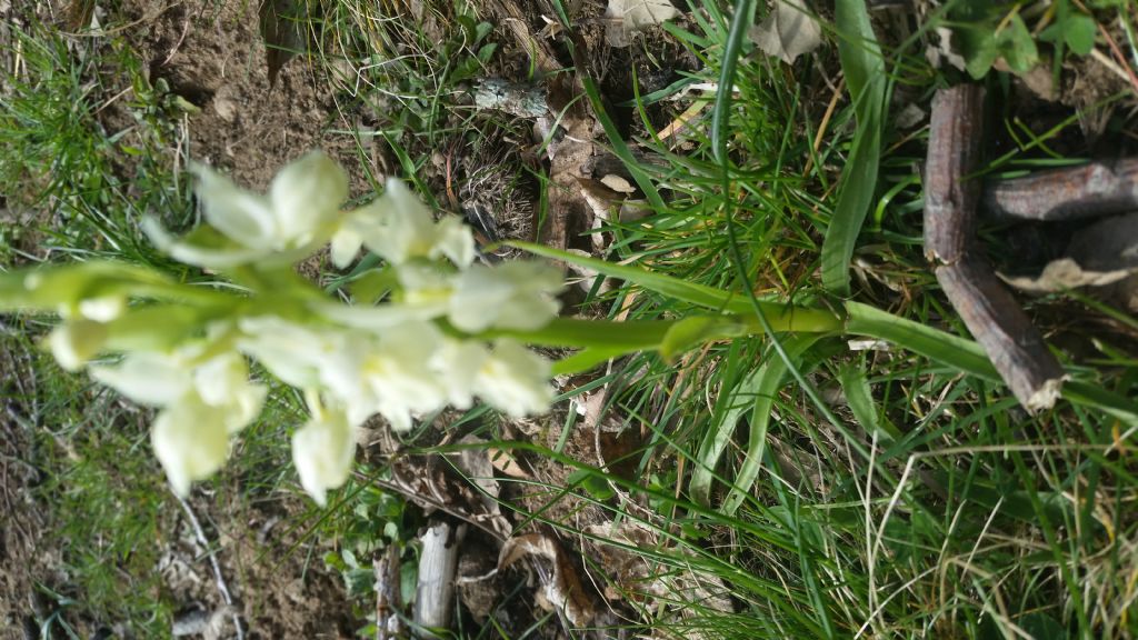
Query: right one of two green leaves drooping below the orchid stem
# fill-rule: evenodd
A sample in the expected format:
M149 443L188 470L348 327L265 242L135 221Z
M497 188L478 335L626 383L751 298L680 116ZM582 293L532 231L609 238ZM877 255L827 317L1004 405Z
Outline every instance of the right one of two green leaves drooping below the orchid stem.
M815 335L803 335L803 336L791 336L783 339L783 347L786 350L786 355L789 356L791 363L794 367L801 367L802 355L814 346L814 343L818 342L822 336ZM735 475L735 479L731 486L731 493L727 494L727 499L723 501L723 507L719 509L721 512L732 516L739 510L739 507L747 500L748 494L751 492L751 485L759 477L759 471L762 469L762 456L767 445L767 426L770 425L770 410L774 407L775 394L778 393L786 383L786 376L790 372L786 360L783 360L777 354L770 350L767 354L766 362L759 370L756 371L757 381L754 391L754 404L751 407L751 434L747 442L747 457L743 459L743 465L739 468L739 474ZM737 421L737 419L736 419ZM727 428L726 421L720 426ZM732 430L734 426L729 427ZM729 435L728 435L729 437ZM711 459L711 453L714 451L708 451L707 459ZM723 453L720 449L719 453ZM701 462L702 462L701 458ZM716 456L716 461L718 461L718 456ZM714 465L700 465L698 470L707 470L710 473L715 469ZM704 482L700 478L701 482ZM693 481L694 474L693 474ZM709 481L707 481L709 482Z

